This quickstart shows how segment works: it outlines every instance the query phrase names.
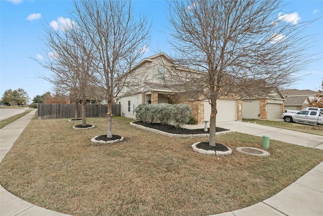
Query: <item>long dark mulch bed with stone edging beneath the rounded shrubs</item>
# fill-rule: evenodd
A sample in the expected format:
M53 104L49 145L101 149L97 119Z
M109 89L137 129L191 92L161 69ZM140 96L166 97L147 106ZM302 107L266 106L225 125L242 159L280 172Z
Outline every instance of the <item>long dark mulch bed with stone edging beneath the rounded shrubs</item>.
M135 121L133 122L138 125L142 125L145 127L150 127L153 129L157 129L158 131L164 131L170 134L209 134L209 130L207 132L204 131L204 128L201 129L186 129L186 128L176 128L173 125L163 125L161 123L150 123L150 124L145 124L142 121ZM229 131L229 129L217 127L216 128L217 132L223 132L223 131Z

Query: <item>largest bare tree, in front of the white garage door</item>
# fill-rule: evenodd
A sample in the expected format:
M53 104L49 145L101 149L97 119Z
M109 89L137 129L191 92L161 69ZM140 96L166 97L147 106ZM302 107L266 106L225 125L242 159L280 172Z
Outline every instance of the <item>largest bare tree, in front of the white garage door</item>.
M217 99L267 95L311 62L305 52L311 37L300 33L312 21L286 22L278 15L281 1L188 0L169 7L174 60L199 71L174 77L185 80L190 95L209 101L210 146L216 146Z

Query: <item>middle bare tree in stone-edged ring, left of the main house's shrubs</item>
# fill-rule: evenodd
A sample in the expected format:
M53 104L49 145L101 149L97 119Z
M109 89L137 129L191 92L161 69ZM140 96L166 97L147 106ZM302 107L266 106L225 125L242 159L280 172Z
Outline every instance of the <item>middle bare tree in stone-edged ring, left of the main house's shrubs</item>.
M107 103L107 138L112 138L112 104L148 46L150 24L146 17L134 17L129 1L75 1L74 6L77 25L97 51L92 84Z

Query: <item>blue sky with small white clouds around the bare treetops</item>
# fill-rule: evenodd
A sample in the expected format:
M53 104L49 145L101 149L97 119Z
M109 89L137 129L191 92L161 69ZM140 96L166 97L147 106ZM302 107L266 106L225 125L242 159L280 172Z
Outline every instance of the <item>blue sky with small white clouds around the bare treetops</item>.
M151 42L146 55L158 51L172 55L167 43L167 4L165 1L134 1L135 12L147 15L152 20ZM323 16L323 1L284 1L289 5L282 11L298 22ZM67 10L72 8L71 1L47 0L0 0L0 97L8 89L24 89L33 99L36 95L50 91L47 81L37 78L39 73L49 71L41 67L32 58L42 53L44 28L52 21L60 23L61 17L69 18ZM287 18L289 17L287 16ZM319 59L300 71L302 79L292 88L299 90L317 90L323 78L323 19L314 22L305 32L315 34L315 41L309 53Z

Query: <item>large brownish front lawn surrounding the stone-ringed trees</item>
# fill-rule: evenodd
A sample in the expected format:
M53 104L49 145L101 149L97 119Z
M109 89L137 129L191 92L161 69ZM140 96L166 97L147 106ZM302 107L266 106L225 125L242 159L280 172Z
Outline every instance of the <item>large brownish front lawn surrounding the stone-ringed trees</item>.
M35 115L0 164L0 183L18 197L72 215L209 215L267 199L323 160L323 151L271 140L269 157L238 153L261 148L261 137L218 136L232 155L202 155L180 139L114 117L121 143L95 146L105 118L93 129L73 129L68 119Z

